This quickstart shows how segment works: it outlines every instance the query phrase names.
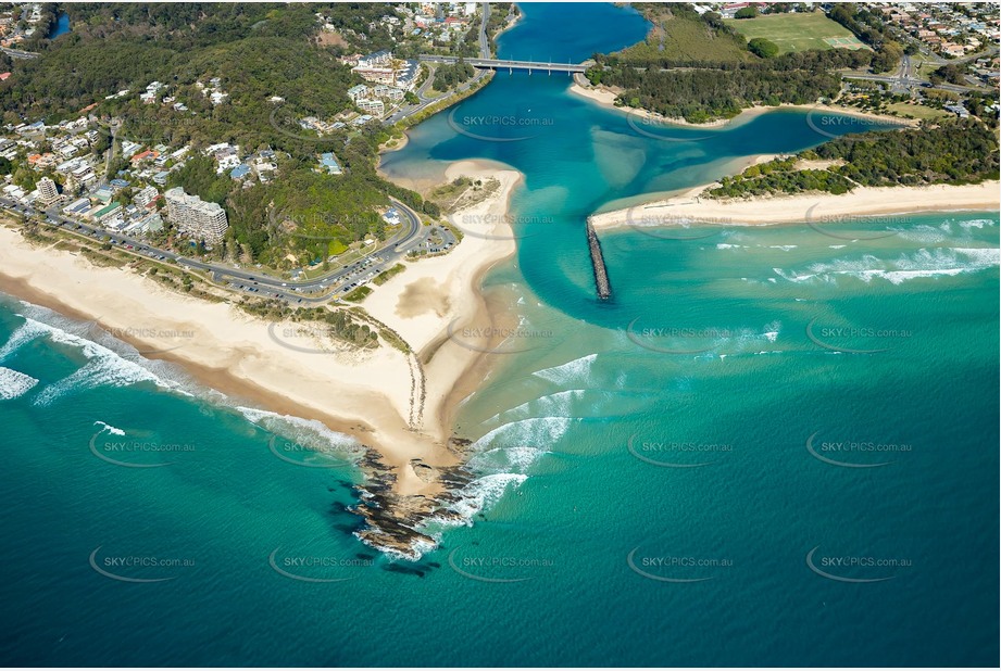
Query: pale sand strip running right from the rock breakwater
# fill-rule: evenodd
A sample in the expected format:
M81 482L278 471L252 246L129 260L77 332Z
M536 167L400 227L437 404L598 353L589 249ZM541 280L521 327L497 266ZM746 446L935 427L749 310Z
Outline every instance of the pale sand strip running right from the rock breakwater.
M699 221L726 226L793 224L834 217L875 216L929 211L998 210L999 182L971 186L860 187L850 193L779 195L748 200L710 200L703 190L589 217L596 229L623 226L688 226Z

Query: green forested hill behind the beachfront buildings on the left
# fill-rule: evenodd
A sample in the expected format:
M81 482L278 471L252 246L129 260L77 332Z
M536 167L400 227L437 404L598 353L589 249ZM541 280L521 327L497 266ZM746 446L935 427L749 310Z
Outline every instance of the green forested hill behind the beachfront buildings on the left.
M90 114L105 119L96 152L108 147L112 118L123 122L120 139L147 147L229 142L242 154L274 150L279 173L270 183L245 189L228 174L216 174L214 160L197 152L171 174L168 187L225 207L230 228L222 255L276 267L324 259L367 236L384 237L378 213L390 195L417 212L438 214L434 203L376 173L378 145L389 139L379 124L323 138L299 125L304 116L330 118L351 107L347 89L362 79L337 56L391 46L389 34L371 25L392 13L388 5L85 3L65 9L73 30L39 40L35 47L43 58L17 61L15 76L0 84L5 122L53 124L96 104ZM343 41L320 43L316 12ZM455 66L455 77L466 67ZM212 105L196 87L213 77L228 93L225 104ZM104 98L123 89L136 92L153 80L167 85L168 94L188 110L143 105L136 96ZM283 100L272 102L276 96ZM337 154L342 175L313 170L323 151ZM118 159L112 173L125 167L127 161Z

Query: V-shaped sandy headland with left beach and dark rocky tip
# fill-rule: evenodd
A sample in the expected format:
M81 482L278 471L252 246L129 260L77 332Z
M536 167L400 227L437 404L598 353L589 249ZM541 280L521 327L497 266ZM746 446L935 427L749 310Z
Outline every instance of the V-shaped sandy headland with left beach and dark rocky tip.
M508 228L508 201L520 173L466 162L449 174L498 179L500 188L474 210L499 233ZM302 325L270 322L228 302L167 290L128 268L37 246L13 224L0 226L0 290L95 321L147 358L178 365L235 403L316 420L354 439L366 447L366 482L359 485L355 509L365 524L356 535L416 558L434 543L421 533L422 521L447 516L441 508L470 481L461 468L463 441L451 440L452 405L474 391L467 371L485 364L480 351L449 340L449 325L489 321L478 291L483 274L513 252L510 235L470 236L448 254L403 262L403 273L375 288L363 306L406 340L410 354L386 343L358 350L317 329L304 329L288 346L275 334L297 338ZM178 333L187 336L178 340ZM478 344L488 347L489 338Z

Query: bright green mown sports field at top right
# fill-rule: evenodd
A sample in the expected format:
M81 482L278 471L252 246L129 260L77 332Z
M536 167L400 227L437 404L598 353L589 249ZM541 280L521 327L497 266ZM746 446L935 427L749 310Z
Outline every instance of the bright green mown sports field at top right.
M810 14L766 14L756 18L733 18L726 22L749 40L763 37L772 40L780 53L808 49L859 49L862 42L851 30L827 18L823 12Z

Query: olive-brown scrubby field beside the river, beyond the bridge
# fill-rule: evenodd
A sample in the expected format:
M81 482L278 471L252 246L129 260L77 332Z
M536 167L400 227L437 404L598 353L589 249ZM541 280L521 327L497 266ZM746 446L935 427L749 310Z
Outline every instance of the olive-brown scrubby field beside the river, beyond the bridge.
M645 12L653 28L643 42L623 49L626 59L671 58L679 61L747 61L751 55L731 37L716 36L701 21L677 16L670 5L655 5Z

